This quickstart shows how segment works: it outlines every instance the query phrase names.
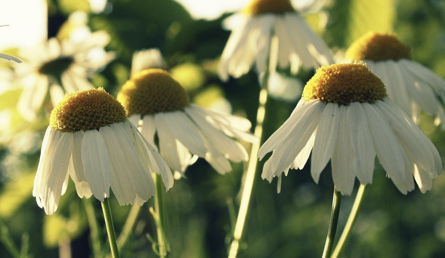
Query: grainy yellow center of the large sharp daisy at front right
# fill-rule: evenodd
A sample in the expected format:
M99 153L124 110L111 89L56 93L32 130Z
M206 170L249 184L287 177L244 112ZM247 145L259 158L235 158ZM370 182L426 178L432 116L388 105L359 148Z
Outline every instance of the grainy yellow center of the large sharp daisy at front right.
M304 86L302 98L348 106L351 102L374 103L388 96L383 82L363 63L320 67Z

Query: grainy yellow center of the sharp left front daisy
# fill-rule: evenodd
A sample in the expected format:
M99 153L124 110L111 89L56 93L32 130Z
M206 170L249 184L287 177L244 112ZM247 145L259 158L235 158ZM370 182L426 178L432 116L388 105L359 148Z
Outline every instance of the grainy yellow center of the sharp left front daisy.
M65 94L49 118L51 127L61 131L99 129L127 119L124 107L103 88Z

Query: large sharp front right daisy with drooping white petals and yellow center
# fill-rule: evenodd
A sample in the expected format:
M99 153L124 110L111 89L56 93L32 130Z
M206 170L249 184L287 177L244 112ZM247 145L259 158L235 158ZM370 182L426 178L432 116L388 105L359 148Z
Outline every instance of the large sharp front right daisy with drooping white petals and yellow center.
M262 177L280 182L283 172L303 168L311 150L314 181L331 160L334 184L344 195L352 193L356 177L372 183L376 156L404 194L414 180L421 192L430 190L442 172L436 147L362 63L317 70L289 119L260 148L260 159L272 152Z

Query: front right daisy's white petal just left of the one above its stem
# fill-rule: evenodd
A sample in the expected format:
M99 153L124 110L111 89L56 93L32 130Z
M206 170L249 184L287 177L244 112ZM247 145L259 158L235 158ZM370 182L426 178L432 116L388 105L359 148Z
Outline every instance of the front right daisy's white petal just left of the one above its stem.
M331 159L337 142L340 114L337 103L328 103L321 114L312 149L311 175L318 184L320 174Z

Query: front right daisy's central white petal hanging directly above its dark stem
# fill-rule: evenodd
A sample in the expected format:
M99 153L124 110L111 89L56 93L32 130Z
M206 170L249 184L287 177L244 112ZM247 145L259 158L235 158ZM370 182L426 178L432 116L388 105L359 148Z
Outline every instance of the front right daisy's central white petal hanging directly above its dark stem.
M348 126L348 109L349 106L340 105L339 107L340 127L331 159L332 179L334 180L336 189L343 195L350 195L352 193L357 171L357 157L355 156L356 153L354 153L349 139L352 131Z

